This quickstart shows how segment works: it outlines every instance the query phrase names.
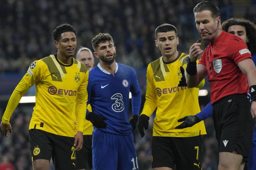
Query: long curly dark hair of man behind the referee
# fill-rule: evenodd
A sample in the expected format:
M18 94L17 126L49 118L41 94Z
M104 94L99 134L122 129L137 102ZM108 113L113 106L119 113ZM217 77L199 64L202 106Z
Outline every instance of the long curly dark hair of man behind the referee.
M256 25L250 20L247 20L244 18L230 18L224 21L221 24L221 27L223 31L227 32L229 27L232 25L241 25L245 27L246 37L247 39L249 39L249 42L247 43L247 47L251 53L255 54L256 53Z

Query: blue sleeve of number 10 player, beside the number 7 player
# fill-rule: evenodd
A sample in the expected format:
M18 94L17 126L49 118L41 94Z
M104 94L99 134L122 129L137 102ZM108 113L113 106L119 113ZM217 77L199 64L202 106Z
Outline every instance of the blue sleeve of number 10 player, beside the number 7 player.
M131 92L131 105L133 108L133 115L139 116L139 109L141 107L141 89L139 88L138 78L135 70L133 69L131 79L131 86L130 86L130 92Z

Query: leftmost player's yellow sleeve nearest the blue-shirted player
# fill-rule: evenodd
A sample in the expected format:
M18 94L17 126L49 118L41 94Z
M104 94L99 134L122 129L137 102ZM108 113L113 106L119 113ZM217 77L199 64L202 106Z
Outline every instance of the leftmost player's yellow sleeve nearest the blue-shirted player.
M83 132L83 125L86 115L86 105L87 105L87 84L88 84L89 71L85 73L85 80L78 88L77 98L75 101L75 119L77 122L77 131Z

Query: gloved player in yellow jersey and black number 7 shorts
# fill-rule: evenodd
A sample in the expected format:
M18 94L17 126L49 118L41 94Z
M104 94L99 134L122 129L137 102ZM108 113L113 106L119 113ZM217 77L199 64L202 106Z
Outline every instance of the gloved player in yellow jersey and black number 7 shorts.
M149 116L157 107L153 125L152 168L153 170L198 170L202 168L203 143L206 134L203 122L191 128L175 129L177 120L200 112L198 88L179 87L181 69L186 67L188 54L177 51L177 29L171 24L162 24L155 29L155 44L162 57L147 67L146 101L138 121L141 137L148 129ZM182 66L182 67L181 67ZM202 87L204 80L198 85Z

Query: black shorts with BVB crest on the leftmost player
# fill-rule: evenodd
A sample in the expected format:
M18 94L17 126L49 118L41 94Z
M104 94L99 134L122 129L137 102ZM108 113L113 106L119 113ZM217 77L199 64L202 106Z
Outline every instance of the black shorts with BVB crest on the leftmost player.
M40 129L29 130L30 156L37 159L53 158L55 170L75 169L74 138L55 135Z

